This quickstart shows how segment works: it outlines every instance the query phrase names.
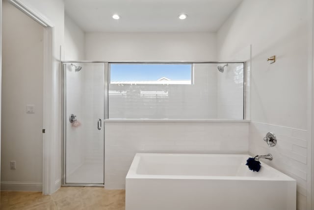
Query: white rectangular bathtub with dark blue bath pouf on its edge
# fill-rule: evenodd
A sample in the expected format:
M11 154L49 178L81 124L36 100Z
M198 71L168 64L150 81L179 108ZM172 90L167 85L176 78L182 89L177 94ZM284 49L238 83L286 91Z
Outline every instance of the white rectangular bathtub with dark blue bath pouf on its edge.
M136 154L126 210L295 210L296 181L265 163L252 172L248 157Z

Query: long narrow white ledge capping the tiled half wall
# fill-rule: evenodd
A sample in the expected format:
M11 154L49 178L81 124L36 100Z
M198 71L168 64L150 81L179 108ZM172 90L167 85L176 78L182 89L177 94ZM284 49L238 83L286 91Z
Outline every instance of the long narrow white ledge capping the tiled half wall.
M213 123L249 123L251 120L224 120L224 119L105 119L105 122L213 122Z

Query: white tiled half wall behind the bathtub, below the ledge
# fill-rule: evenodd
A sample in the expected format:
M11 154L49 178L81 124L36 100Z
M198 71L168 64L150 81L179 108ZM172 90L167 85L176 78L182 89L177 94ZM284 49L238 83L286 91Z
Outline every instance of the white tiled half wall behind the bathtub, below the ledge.
M105 187L125 189L136 153L247 154L249 122L105 122Z

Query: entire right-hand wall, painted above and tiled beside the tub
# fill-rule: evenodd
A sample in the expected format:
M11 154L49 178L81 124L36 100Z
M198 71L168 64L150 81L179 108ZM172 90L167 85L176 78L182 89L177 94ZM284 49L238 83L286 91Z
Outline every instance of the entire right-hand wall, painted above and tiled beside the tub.
M307 209L311 164L308 63L312 35L308 0L244 0L217 33L218 58L229 59L252 46L250 146L252 154L271 153L273 167L297 180L297 209ZM276 55L274 64L267 58ZM278 144L263 141L274 131ZM310 150L309 150L310 151ZM308 194L310 196L310 194ZM310 200L310 197L309 199Z

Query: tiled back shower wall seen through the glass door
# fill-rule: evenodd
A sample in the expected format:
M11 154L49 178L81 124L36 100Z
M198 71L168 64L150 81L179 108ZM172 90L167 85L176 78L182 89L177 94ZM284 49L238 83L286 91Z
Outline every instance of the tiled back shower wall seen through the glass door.
M98 119L104 117L104 64L87 63L81 64L83 69L83 91L81 93L82 114L84 129L82 154L84 163L103 163L104 162L104 132L97 130Z

